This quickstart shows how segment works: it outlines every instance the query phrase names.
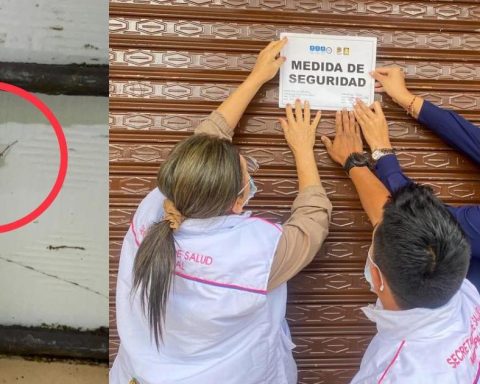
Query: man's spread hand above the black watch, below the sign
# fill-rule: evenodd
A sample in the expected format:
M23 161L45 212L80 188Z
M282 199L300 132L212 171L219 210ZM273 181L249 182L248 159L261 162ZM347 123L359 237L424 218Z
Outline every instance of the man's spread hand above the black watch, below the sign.
M354 152L363 152L362 137L360 136L360 128L355 124L353 112L337 111L335 115L335 139L332 141L322 136L322 142L327 148L327 152L333 161L342 167Z

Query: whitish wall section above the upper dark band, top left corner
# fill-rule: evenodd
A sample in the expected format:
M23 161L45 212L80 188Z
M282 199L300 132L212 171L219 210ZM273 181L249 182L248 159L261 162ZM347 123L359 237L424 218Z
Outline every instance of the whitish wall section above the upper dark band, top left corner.
M0 0L0 21L0 61L107 63L107 0Z

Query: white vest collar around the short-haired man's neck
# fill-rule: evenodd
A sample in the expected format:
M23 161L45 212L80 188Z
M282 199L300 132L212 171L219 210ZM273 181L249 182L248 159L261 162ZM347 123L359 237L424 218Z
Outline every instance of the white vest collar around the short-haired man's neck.
M380 300L377 299L375 304L363 307L362 311L368 319L376 323L378 334L384 337L395 340L412 336L430 338L448 332L452 324L459 321L462 295L462 288L460 288L447 304L435 309L414 308L390 311L384 309Z

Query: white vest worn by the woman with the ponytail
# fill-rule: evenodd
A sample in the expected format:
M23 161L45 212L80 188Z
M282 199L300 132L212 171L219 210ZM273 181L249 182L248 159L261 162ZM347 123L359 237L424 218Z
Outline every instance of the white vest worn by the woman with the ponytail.
M110 384L295 384L286 284L267 292L281 228L249 213L187 219L175 233L177 266L157 350L130 292L138 245L161 220L163 201L158 189L150 192L125 236L116 296L121 345Z

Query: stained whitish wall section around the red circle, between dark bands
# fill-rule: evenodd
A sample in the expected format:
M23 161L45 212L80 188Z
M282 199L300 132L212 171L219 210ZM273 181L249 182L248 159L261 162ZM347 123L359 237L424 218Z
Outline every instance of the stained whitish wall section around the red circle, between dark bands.
M0 234L0 324L106 326L108 100L38 96L64 128L70 164L53 205L26 227ZM18 140L0 164L6 223L45 198L59 153L53 129L28 103L3 94L0 109L0 143Z

